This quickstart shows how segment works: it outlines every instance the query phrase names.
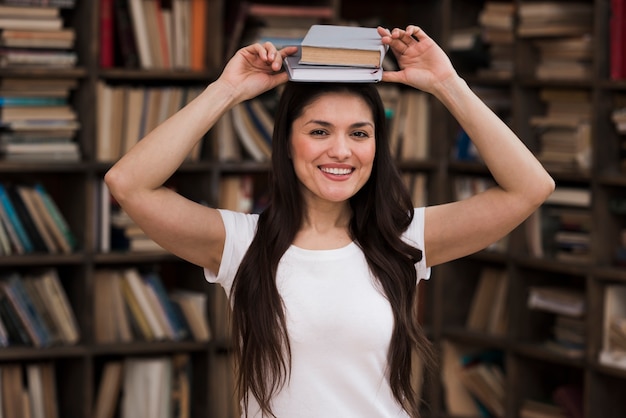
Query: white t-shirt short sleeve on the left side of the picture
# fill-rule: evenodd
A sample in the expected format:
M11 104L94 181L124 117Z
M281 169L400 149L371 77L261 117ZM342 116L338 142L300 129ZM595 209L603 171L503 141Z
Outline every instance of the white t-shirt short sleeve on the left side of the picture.
M221 284L226 294L230 294L230 288L237 270L239 270L239 264L241 264L241 260L248 251L256 233L259 216L225 209L219 209L219 212L226 230L222 261L217 274L205 268L204 276L211 283Z

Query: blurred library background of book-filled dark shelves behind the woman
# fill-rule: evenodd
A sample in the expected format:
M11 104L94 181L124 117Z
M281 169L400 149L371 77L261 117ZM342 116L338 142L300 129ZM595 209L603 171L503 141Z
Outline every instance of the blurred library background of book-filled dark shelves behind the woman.
M0 1L0 416L238 416L223 291L102 179L240 45L312 23L421 26L557 182L420 284L439 360L415 370L422 415L626 416L624 0ZM416 206L492 184L436 100L379 87ZM170 187L262 210L276 97L226 114Z

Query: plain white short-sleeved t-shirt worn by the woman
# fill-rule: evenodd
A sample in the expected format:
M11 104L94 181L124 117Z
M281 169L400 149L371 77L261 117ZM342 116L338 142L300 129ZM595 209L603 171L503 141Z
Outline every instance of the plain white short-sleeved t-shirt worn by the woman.
M226 242L220 270L208 281L230 294L239 264L256 232L257 215L220 211ZM424 248L424 209L415 209L403 237ZM426 257L417 277L428 279ZM291 246L279 262L276 284L283 299L291 376L272 399L279 418L407 417L389 386L387 352L393 313L360 248L336 250ZM249 417L261 417L250 396Z

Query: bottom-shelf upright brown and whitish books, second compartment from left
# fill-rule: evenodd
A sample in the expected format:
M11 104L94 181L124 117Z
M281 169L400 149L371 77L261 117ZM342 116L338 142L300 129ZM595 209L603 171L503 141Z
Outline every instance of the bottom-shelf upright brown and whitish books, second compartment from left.
M104 364L94 418L189 418L193 364L188 354L126 357Z

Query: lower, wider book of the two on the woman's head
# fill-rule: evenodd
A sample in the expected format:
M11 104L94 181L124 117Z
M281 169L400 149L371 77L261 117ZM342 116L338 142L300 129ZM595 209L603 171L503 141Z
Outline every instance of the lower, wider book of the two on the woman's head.
M284 67L291 81L377 83L383 77L382 67L302 64L299 55L285 57Z

